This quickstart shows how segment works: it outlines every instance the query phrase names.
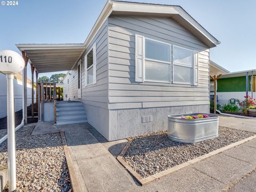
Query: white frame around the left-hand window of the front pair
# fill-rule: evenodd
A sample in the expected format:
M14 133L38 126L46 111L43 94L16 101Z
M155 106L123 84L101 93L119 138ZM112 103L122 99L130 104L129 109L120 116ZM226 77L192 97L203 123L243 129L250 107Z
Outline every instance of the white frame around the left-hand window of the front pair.
M149 58L146 58L145 56L145 53L146 53L146 49L145 49L145 39L148 39L150 41L153 41L153 42L158 42L158 43L162 43L162 44L166 44L166 45L169 45L170 46L170 62L168 61L161 61L161 60L156 60L156 59L149 59ZM165 42L161 42L161 41L158 41L158 40L155 40L155 39L151 39L151 38L148 38L148 37L144 37L143 38L143 47L144 47L144 52L143 52L143 66L142 66L142 69L143 69L143 82L153 82L153 83L172 83L172 44L170 43L165 43ZM159 63L163 63L163 64L166 64L166 65L170 65L170 71L169 71L169 74L170 74L170 81L158 81L158 80L152 80L152 79L146 79L146 74L145 74L145 61L155 61L155 62L159 62Z

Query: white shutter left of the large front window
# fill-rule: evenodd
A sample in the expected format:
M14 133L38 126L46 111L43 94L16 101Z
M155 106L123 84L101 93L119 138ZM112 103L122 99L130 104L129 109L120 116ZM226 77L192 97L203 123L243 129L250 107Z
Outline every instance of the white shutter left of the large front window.
M135 34L135 82L143 82L143 36Z

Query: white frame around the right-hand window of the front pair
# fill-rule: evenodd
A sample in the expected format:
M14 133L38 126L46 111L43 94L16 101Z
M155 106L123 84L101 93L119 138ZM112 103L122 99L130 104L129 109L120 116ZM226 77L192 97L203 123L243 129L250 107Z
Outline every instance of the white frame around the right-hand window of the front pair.
M172 54L172 83L173 84L182 84L182 85L194 85L194 78L195 78L195 73L194 73L194 65L195 65L195 59L194 59L194 50L190 50L190 49L187 49L187 48L185 48L185 47L181 47L181 46L178 46L178 45L172 45L173 47L172 47L172 50L173 50L173 54ZM174 47L179 47L179 48L181 48L181 49L185 49L185 50L189 50L189 51L191 51L192 52L192 59L191 59L191 61L192 61L192 66L188 66L188 65L185 65L185 64L183 64L183 63L177 63L177 62L174 62ZM187 67L187 68L191 68L191 69L193 69L193 73L192 73L192 77L191 77L191 83L186 83L186 82L176 82L176 81L174 81L174 65L175 66L181 66L181 67Z

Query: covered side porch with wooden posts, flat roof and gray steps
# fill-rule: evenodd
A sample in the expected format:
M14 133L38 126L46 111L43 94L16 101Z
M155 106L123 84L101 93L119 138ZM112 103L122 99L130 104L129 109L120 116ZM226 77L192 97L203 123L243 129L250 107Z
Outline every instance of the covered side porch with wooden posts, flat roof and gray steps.
M38 122L53 121L54 124L87 122L81 102L60 101L60 87L55 83L38 82L38 75L41 73L71 70L84 52L84 44L17 44L16 46L25 60L22 73L23 124L27 124L30 116L25 107L28 95L27 84L24 83L27 79L28 63L31 68L31 87L34 89L34 74L36 76L36 102L32 94L31 117L38 116ZM34 106L36 106L35 110Z

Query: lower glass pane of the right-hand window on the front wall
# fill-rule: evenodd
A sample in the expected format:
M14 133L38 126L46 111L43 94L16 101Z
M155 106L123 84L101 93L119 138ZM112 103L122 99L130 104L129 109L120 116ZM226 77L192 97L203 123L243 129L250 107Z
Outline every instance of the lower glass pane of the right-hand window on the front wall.
M193 68L173 66L173 81L192 84Z

